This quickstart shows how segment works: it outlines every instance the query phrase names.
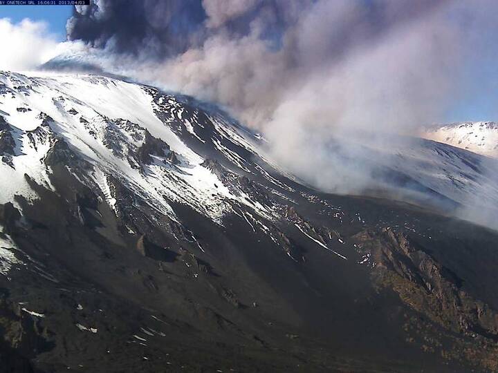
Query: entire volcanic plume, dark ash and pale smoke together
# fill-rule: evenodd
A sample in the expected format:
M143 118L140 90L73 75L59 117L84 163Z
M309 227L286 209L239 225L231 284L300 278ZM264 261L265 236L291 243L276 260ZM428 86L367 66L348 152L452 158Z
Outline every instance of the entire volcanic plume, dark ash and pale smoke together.
M223 106L311 184L362 193L392 182L379 169L396 157L371 151L389 149L385 133L444 122L479 88L472 77L498 55L497 11L492 0L95 0L68 39L97 49L104 70Z

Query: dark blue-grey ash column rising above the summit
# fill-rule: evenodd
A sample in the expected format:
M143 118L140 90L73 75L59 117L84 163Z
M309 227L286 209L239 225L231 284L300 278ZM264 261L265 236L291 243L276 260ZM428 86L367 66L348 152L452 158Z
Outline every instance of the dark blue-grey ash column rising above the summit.
M94 0L75 7L66 29L68 40L161 58L199 44L205 19L201 0Z

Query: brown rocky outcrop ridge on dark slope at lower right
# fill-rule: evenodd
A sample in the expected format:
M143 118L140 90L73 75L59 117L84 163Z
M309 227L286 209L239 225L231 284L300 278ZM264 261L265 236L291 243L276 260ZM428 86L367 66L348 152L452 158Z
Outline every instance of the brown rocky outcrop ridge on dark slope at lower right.
M393 289L404 303L453 332L498 341L498 313L465 291L456 274L405 233L388 227L354 238L360 252L370 256L377 285Z

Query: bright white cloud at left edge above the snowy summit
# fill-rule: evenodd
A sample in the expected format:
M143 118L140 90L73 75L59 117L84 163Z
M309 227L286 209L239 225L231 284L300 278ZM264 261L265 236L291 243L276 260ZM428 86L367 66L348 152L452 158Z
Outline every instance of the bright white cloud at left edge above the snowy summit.
M0 69L29 70L39 66L57 53L56 37L48 32L44 22L24 19L12 23L0 19Z

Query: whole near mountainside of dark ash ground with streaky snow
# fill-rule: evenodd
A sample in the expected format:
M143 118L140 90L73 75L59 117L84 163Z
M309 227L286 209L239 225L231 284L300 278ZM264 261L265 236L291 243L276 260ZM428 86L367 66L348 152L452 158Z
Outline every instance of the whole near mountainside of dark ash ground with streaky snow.
M0 372L498 369L495 231L315 191L187 99L138 87L196 155L49 82L1 90Z

